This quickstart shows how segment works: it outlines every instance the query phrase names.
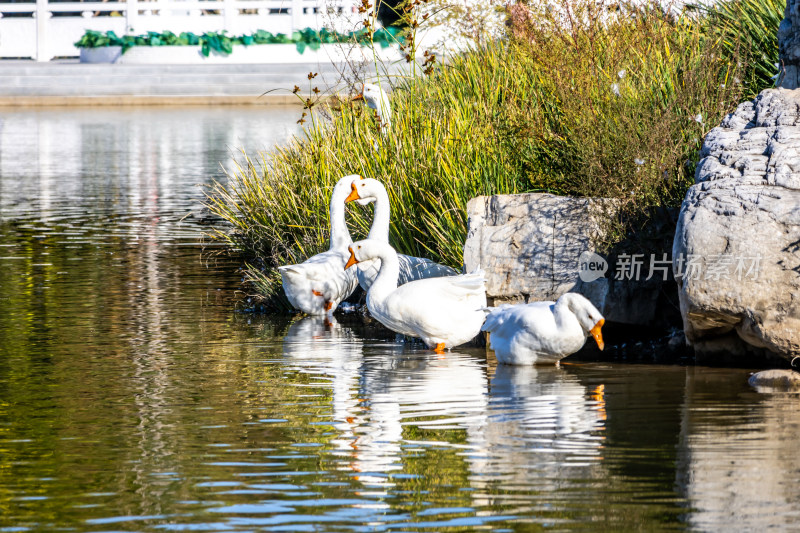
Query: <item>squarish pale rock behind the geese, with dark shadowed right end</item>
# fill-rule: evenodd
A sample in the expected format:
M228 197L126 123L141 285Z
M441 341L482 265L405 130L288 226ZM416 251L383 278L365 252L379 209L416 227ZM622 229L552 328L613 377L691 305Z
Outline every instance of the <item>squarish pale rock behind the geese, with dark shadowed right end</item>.
M607 258L595 253L603 220L614 212L607 199L539 193L473 198L467 204L465 270L486 271L490 305L556 300L572 291L586 296L608 322L664 326L659 301L665 282L659 276L646 281L644 269L639 281L615 280ZM605 270L581 276L587 264Z

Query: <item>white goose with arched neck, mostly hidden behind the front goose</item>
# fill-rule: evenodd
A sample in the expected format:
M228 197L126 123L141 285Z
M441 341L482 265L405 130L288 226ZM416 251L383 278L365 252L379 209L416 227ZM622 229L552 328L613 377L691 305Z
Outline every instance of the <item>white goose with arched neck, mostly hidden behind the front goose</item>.
M375 202L375 215L369 229L368 239L389 243L389 194L381 182L372 178L353 180L350 195L345 201L358 201L360 204ZM411 255L397 254L400 262L400 273L397 278L398 285L405 285L409 281L442 276L456 276L458 272L449 266L441 265L430 259L414 257ZM358 264L358 283L365 291L378 275L380 260L364 261Z

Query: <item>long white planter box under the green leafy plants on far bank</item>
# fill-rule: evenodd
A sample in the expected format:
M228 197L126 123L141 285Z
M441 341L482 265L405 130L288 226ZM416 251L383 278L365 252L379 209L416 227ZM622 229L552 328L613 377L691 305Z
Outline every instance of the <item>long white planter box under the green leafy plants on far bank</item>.
M397 61L402 59L395 46L372 48L350 44L323 44L318 50L306 47L303 53L294 44L254 44L234 46L230 54L211 51L203 56L199 46L134 46L124 54L119 46L82 48L81 63L123 65L190 65L220 63L329 63L342 61Z

